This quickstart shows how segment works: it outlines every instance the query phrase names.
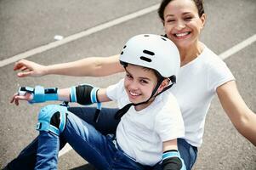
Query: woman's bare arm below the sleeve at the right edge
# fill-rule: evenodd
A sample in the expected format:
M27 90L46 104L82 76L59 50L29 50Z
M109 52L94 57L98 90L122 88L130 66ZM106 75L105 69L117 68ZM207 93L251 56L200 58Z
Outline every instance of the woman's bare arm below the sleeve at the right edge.
M219 101L239 133L256 146L256 114L251 111L230 81L217 88Z

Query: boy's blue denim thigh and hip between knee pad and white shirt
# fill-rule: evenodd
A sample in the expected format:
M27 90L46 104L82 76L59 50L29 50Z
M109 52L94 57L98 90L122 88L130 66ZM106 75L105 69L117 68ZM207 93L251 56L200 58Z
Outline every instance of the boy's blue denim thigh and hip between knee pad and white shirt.
M72 148L97 169L144 170L113 142L110 135L105 136L88 122L68 113L63 136Z

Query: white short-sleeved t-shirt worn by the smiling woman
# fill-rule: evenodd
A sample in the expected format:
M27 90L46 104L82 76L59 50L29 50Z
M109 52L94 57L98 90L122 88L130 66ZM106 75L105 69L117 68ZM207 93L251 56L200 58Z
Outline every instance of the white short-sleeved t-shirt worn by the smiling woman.
M216 88L235 80L225 62L204 47L202 54L181 67L178 81L169 90L179 103L185 123L185 138L190 144L200 146L205 118L216 93Z

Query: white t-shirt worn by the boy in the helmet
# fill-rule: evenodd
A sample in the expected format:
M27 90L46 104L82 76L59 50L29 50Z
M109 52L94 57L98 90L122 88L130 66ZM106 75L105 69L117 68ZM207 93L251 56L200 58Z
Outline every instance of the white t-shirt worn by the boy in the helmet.
M106 94L117 101L118 108L130 103L123 79L107 88ZM169 91L159 94L151 105L141 111L135 111L131 106L117 126L117 144L128 156L148 166L162 160L163 141L184 135L178 102Z

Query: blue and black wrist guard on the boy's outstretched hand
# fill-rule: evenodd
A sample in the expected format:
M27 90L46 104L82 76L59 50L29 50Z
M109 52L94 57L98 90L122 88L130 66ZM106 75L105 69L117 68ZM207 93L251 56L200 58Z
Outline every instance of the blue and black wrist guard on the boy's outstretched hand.
M33 99L29 103L42 103L50 100L58 100L58 88L43 88L42 86L36 86L35 88L20 87L19 95L25 95L26 93L32 94Z

